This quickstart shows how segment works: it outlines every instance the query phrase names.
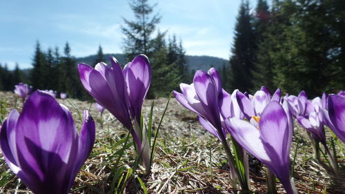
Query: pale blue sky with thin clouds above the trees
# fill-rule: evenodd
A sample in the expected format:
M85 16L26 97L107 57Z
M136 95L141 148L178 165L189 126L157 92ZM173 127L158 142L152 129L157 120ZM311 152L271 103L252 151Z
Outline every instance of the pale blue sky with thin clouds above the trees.
M241 0L149 2L162 16L159 30L181 38L187 55L228 59ZM43 50L60 51L68 41L75 57L95 54L99 44L105 53L121 53L122 17L134 19L125 0L0 0L0 63L30 68L37 40Z

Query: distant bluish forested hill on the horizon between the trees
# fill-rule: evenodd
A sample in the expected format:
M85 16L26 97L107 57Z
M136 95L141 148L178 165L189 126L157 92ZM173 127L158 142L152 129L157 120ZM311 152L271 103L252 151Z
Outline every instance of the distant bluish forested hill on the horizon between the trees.
M106 63L110 64L110 56L114 56L121 65L126 64L128 61L124 54L104 54ZM210 57L210 56L193 56L186 55L187 66L189 70L208 70L210 67L220 68L223 64L228 65L228 60L221 59L219 57ZM96 60L96 55L89 55L87 57L78 57L76 58L78 63L84 64L93 64Z

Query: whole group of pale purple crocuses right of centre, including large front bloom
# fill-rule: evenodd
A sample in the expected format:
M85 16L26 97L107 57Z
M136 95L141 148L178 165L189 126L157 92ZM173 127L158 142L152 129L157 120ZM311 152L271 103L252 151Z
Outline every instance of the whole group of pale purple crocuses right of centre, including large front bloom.
M266 88L255 95L235 90L232 95L221 88L219 74L215 68L208 73L199 70L195 73L193 84L180 84L181 93L174 95L184 107L197 113L201 126L215 135L226 150L233 165L234 177L239 178L242 189L249 189L244 175L246 157L233 157L227 146L226 134L229 132L233 144L246 149L273 171L287 193L297 193L293 179L290 178L290 147L293 135L293 122L287 102L281 103L280 90L273 96ZM245 121L244 119L247 119ZM237 151L236 151L237 153ZM246 153L242 153L245 156ZM238 164L242 160L242 169ZM248 177L248 176L246 176ZM247 180L248 181L248 180Z

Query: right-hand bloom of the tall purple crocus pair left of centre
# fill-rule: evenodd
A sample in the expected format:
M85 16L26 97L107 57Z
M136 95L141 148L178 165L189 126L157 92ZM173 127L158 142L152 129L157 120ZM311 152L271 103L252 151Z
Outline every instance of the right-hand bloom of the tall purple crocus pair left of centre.
M127 86L130 110L140 121L141 105L144 102L151 81L151 69L148 57L138 55L124 68L124 79Z

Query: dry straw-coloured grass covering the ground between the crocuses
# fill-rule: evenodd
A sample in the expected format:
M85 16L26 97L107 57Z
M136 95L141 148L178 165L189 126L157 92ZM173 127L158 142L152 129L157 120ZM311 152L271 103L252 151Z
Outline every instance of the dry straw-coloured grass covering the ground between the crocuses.
M12 93L0 93L0 100L8 102L7 113L14 106L17 108L22 106L19 100L16 104L15 99L16 96ZM166 101L167 99L164 98L155 100L154 128L157 128ZM90 108L90 113L95 120L99 119L99 113L88 102L75 99L60 102L72 111L78 127L81 121L72 104L79 111ZM150 100L144 103L143 113L146 116L150 111L150 103ZM102 119L103 127L97 122L95 147L77 175L72 193L108 194L112 187L119 183L113 181L116 171L120 168L130 169L133 167L135 151L130 145L117 163L117 158L121 153L119 150L125 145L124 139L126 139L127 131L108 112L103 114ZM139 166L134 173L145 183L148 193L235 192L229 182L226 155L220 142L206 133L206 130L199 126L195 115L181 107L175 99L170 101L159 132L152 172L145 176L142 167ZM326 135L331 137L328 129ZM120 140L122 144L117 144ZM342 144L343 151L335 146L338 155L337 161L341 165L340 175L335 175L324 157L322 157L322 162L313 159L313 149L305 130L295 124L291 158L295 153L297 142L299 142L299 148L294 173L297 191L299 193L345 193L344 144ZM250 157L251 188L255 193L266 193L264 172L264 165ZM119 186L121 187L123 184L124 181L120 182ZM125 185L124 193L144 193L137 178L131 177ZM285 192L281 184L277 184L277 188L278 193ZM17 177L12 174L1 157L0 193L14 193L14 191L30 193L23 184L18 182Z

